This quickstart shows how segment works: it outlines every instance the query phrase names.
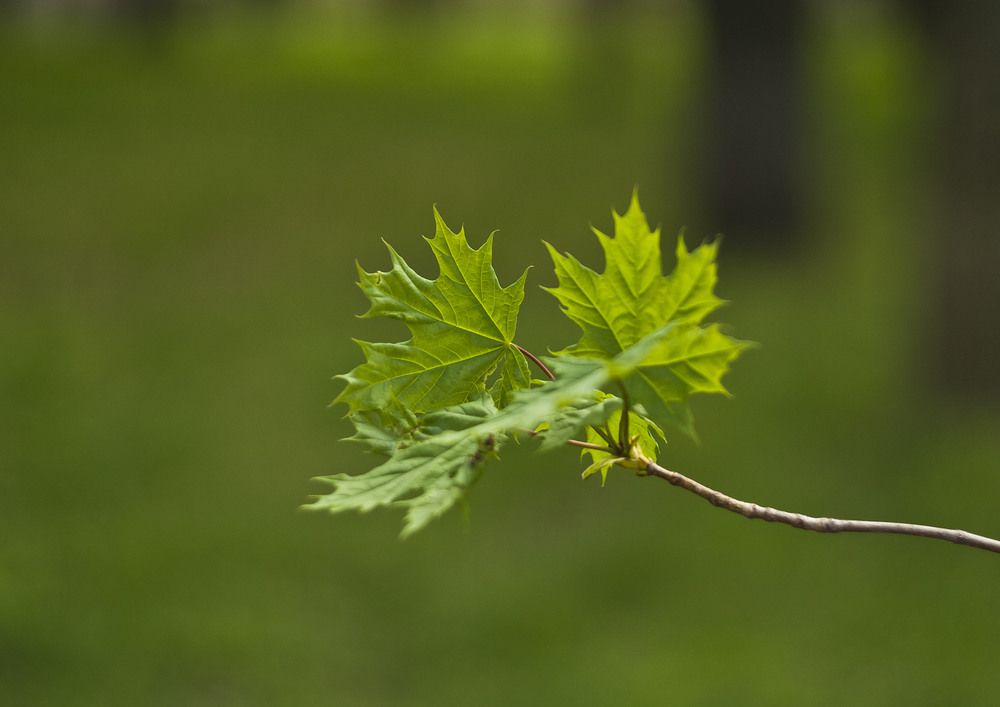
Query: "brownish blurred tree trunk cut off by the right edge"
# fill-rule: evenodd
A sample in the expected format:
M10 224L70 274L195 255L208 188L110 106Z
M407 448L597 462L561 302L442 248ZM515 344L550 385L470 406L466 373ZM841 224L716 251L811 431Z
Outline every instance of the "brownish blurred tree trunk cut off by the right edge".
M1000 403L1000 2L913 3L942 67L933 381Z

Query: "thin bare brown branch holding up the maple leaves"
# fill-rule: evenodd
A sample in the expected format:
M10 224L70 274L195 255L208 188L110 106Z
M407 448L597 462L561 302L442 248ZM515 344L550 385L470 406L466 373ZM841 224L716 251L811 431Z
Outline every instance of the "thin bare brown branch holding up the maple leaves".
M897 535L918 535L924 538L947 540L958 545L978 547L982 550L1000 553L1000 540L975 535L965 530L949 530L933 525L913 525L911 523L890 523L874 520L841 520L839 518L814 518L801 513L779 511L776 508L758 506L720 493L714 489L689 479L676 471L664 469L655 462L646 461L645 472L650 476L658 476L674 486L680 486L693 494L701 496L713 506L725 508L727 511L739 513L746 518L758 518L771 523L785 523L800 530L813 530L817 533L894 533Z

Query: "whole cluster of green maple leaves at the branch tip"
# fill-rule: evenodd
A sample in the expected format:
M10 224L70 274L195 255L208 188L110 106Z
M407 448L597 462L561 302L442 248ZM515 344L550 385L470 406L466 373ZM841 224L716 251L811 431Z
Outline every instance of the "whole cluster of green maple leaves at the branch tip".
M747 344L717 325L701 326L722 304L713 294L715 245L689 252L679 241L677 268L664 277L659 231L649 230L633 197L624 216L615 214L614 238L597 232L604 273L549 246L559 277L549 291L583 334L545 359L555 380L532 387L513 344L527 273L500 287L492 237L474 250L464 231L434 215L437 231L427 241L440 268L436 280L418 275L391 247L389 272L358 268L371 302L364 316L401 321L411 338L358 342L366 361L338 376L347 386L334 402L350 406L355 434L348 439L386 459L363 474L320 477L333 491L306 508L403 507L409 535L464 500L511 435L541 435L547 449L583 433L604 448L587 450L594 463L584 476L606 477L613 464L641 469L655 458L664 441L660 421L690 431L689 395L725 392L721 376ZM620 424L625 410L627 425Z

